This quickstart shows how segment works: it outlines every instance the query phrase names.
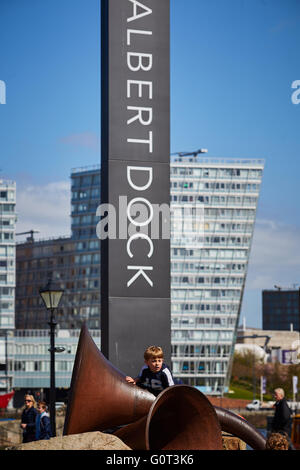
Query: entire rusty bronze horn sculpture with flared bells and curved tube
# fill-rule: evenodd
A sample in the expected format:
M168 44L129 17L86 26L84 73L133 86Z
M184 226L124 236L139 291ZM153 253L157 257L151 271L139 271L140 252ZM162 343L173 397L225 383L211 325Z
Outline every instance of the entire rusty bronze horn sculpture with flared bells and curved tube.
M241 438L255 450L265 448L265 438L250 423L223 408L213 407L194 387L175 385L155 398L128 384L125 374L100 352L84 324L63 434L105 431L121 425L116 435L121 439L123 436L131 442L129 447L136 449L216 449L220 448L220 429Z

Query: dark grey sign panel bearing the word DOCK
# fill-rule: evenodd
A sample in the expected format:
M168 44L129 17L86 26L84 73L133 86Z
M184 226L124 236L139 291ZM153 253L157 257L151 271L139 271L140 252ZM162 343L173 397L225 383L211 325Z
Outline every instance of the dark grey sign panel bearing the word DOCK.
M110 203L117 209L117 220L120 224L117 226L117 235L120 235L120 230L126 223L128 231L128 224L130 223L126 205L122 206L119 197L125 196L122 199L123 203L127 205L136 198L142 198L148 201L154 207L154 216L151 224L143 227L143 230L151 239L151 245L143 238L133 239L130 243L130 237L126 239L116 239L109 241L109 295L112 297L170 297L170 240L161 238L154 239L153 235L159 225L159 230L156 231L157 236L162 237L163 234L167 235L169 227L169 218L160 216L157 217L159 208L164 204L164 210L161 214L166 214L166 208L169 208L169 172L168 164L152 164L147 166L151 169L153 181L148 189L145 191L135 191L128 183L127 169L135 162L117 162L109 163L109 200ZM145 164L139 164L139 168L145 168ZM142 171L132 171L132 181L134 184L141 187L147 183L147 174ZM145 178L146 175L146 178ZM118 191L115 191L118 188ZM147 203L142 204L147 214L150 209ZM132 209L134 209L134 205ZM167 214L168 215L168 214ZM142 220L142 219L141 219ZM164 227L162 226L164 224ZM121 227L122 225L122 227ZM132 227L134 228L134 227ZM137 231L138 233L138 231ZM127 245L130 246L130 252L133 257L130 257L127 250ZM152 253L153 251L153 253ZM152 253L152 254L151 254ZM151 256L148 256L151 254ZM135 276L137 269L133 266L145 266L145 276L140 272L137 279L128 286L128 282ZM147 269L149 268L149 269ZM147 280L149 278L149 281ZM151 281L151 282L150 282ZM153 285L151 285L153 283Z

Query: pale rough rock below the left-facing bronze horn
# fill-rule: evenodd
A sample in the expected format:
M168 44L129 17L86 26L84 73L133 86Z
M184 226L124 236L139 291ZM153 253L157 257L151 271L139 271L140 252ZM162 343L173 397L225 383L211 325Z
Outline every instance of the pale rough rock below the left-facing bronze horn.
M7 447L6 450L131 450L117 436L86 432Z

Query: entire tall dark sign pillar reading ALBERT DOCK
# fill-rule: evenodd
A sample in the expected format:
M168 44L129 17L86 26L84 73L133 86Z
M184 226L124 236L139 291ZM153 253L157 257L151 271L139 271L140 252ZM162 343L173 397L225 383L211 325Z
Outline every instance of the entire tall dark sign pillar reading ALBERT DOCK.
M131 376L153 344L171 365L169 13L102 0L101 349Z

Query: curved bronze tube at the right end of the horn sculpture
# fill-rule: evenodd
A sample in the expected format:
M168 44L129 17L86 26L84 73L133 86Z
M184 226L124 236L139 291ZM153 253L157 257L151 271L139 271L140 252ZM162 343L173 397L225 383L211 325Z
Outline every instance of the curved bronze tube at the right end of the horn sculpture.
M239 437L254 450L264 450L266 448L265 437L248 421L224 408L215 406L215 410L222 431Z

